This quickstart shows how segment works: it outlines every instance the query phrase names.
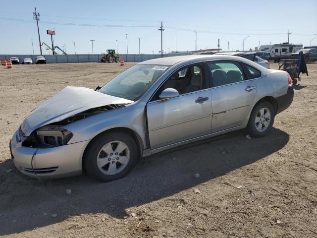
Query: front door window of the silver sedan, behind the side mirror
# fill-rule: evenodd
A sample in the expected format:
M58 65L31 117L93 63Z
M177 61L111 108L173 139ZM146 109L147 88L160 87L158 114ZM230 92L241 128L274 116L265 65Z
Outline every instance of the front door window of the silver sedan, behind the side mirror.
M182 95L204 89L205 87L206 83L202 66L193 65L173 73L163 85L160 86L151 101L159 100L159 95L166 88L176 89L178 93Z

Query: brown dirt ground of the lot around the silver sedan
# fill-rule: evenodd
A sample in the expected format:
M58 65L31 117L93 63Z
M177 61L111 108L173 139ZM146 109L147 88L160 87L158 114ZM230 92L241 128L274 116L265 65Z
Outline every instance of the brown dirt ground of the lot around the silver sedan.
M41 182L15 169L8 142L28 112L65 86L95 88L133 64L0 66L0 236L317 237L316 63L264 138L240 130L182 146L108 183L86 174Z

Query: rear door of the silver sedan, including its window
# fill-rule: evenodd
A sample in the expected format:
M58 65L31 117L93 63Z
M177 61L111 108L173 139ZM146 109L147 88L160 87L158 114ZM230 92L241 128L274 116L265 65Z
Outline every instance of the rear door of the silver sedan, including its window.
M212 133L241 125L252 108L257 87L238 61L209 61ZM261 72L260 72L261 77Z

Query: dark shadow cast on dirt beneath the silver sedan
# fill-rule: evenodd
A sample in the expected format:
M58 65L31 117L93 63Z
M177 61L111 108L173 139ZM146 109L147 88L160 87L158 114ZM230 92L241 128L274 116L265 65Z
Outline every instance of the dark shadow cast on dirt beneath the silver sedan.
M7 160L0 164L0 236L89 213L123 219L131 207L157 201L264 159L288 141L289 135L276 128L265 137L251 139L243 130L230 132L142 159L125 178L107 183L86 174L39 181L16 170L2 173L14 168L12 160ZM200 178L194 179L196 173ZM70 195L66 189L71 189Z

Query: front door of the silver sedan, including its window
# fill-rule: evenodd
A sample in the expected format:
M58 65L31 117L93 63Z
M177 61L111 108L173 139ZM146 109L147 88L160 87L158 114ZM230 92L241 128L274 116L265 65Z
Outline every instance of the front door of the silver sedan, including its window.
M180 95L147 105L151 149L211 133L211 89L206 87L202 65L174 73L158 90L174 88ZM183 78L184 77L184 78ZM190 78L184 84L184 79Z

